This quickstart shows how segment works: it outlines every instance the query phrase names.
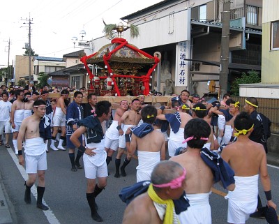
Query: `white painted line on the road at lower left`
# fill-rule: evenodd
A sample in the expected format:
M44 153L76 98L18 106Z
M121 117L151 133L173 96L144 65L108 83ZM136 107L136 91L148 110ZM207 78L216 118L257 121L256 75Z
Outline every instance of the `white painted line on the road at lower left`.
M15 152L13 151L12 148L8 148L7 150L8 150L8 153L10 154L10 157L13 158L13 162L17 166L17 169L20 171L20 174L22 174L23 179L27 180L28 179L28 174L25 172L24 167L22 165L20 165L20 163L18 163L18 158L17 158L17 156L15 156ZM36 188L35 184L31 187L31 193L35 197L35 200L37 200L37 188ZM49 207L44 199L43 199L43 203L47 207ZM47 211L43 211L43 213L47 217L47 221L50 224L60 224L59 220L56 218L56 216L54 216L54 214L53 214L51 209L48 209Z

